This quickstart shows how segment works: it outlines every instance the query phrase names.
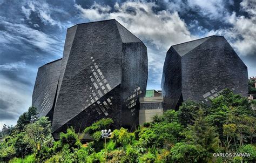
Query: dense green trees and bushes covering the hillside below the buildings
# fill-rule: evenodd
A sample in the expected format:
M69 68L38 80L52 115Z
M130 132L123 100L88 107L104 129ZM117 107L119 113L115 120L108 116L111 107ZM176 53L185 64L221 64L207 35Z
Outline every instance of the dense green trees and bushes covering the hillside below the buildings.
M84 133L94 141L82 144L73 128L53 141L50 121L31 123L31 107L0 144L0 161L21 162L255 162L255 101L225 90L211 105L187 101L178 111L155 116L134 132L114 130L112 119L101 119ZM111 128L106 151L101 130ZM213 157L213 153L248 153L250 157Z

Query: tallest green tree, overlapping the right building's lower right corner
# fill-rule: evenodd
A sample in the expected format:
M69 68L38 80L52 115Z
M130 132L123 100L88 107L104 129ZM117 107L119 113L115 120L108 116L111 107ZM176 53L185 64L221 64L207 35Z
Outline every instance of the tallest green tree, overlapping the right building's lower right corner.
M237 117L239 116L253 116L255 117L255 110L252 110L251 103L248 99L242 97L240 94L234 94L231 90L225 89L220 96L211 100L211 107L208 108L206 119L210 125L216 126L221 141L226 141L223 135L224 124L236 124L238 127ZM240 123L240 125L242 125ZM244 132L246 126L239 128ZM239 131L237 130L237 131ZM242 134L242 136L244 136Z

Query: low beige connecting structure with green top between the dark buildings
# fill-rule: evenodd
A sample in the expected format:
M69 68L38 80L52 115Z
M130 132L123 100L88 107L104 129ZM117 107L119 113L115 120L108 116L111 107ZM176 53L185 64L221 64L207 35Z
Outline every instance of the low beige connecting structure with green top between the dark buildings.
M147 90L145 97L139 98L139 125L151 122L154 116L163 114L161 91Z

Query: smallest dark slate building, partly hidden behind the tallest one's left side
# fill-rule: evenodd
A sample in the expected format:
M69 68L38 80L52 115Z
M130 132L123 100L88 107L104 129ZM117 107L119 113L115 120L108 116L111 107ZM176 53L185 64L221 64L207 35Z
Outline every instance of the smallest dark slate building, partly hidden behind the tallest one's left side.
M62 59L58 59L38 69L32 106L37 108L39 117L47 116L52 120L61 63Z

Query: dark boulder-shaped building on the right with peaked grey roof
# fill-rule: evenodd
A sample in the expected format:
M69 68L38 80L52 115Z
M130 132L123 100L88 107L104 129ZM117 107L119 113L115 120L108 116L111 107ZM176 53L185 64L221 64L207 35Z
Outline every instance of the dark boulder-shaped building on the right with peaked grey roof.
M189 99L208 103L225 88L247 97L247 67L222 36L192 40L167 51L161 88L164 110Z

